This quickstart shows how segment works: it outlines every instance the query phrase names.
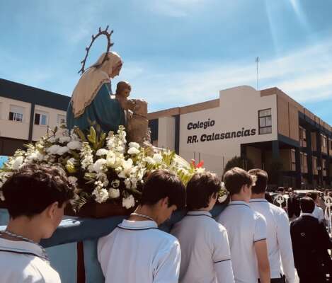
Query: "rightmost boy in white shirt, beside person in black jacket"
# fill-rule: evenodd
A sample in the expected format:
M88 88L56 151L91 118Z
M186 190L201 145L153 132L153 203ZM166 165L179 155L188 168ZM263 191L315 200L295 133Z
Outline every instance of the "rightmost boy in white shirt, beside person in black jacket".
M256 184L252 187L251 208L261 213L267 224L268 259L271 270L271 283L284 283L282 270L287 283L294 283L295 269L290 238L290 222L284 209L265 200L268 185L268 173L261 169L252 169L249 174L256 176ZM281 268L281 262L282 267Z

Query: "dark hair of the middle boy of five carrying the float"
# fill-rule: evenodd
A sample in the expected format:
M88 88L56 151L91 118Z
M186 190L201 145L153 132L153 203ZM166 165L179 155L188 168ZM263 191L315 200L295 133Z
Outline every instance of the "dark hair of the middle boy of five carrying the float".
M217 195L221 180L210 172L195 173L187 185L187 207L189 210L209 206L210 197Z

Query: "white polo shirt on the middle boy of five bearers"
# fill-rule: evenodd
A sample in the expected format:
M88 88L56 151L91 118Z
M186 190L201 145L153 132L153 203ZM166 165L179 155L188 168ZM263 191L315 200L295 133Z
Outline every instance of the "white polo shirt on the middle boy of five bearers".
M234 283L227 231L210 212L188 212L171 233L181 246L180 283Z

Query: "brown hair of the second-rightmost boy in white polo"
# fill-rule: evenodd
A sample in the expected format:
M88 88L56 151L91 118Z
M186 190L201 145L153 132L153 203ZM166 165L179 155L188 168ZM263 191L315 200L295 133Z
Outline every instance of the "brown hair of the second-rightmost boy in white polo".
M235 195L241 191L243 185L253 185L253 177L244 169L234 167L224 173L224 183L229 194Z

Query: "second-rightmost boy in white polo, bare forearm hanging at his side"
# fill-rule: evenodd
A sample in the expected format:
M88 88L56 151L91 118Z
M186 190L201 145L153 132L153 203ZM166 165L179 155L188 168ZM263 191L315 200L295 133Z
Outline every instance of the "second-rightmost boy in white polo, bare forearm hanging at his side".
M254 212L248 202L251 197L253 177L241 168L234 167L224 174L224 183L231 202L218 216L229 236L231 263L236 283L270 282L266 222Z

